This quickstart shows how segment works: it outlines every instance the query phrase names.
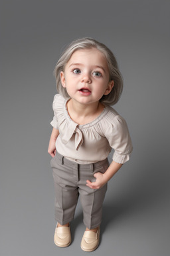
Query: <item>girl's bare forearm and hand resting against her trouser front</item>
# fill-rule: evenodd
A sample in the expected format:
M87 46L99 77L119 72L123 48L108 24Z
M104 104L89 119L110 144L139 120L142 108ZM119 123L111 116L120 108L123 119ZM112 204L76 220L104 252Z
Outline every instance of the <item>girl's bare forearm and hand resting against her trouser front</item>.
M103 187L117 173L122 165L122 163L112 161L105 173L95 173L94 177L96 178L96 181L91 182L87 180L86 185L91 189L100 189L100 187Z

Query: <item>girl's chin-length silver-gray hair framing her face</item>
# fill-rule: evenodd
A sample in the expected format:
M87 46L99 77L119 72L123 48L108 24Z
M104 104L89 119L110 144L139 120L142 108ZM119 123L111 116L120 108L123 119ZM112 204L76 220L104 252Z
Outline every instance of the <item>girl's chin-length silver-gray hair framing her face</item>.
M56 77L56 89L58 93L60 93L64 98L70 98L66 91L66 88L62 87L62 83L60 81L60 72L64 71L64 67L66 63L68 63L74 51L90 48L98 49L106 57L108 69L110 72L110 81L114 81L114 87L112 88L112 91L108 95L103 95L100 101L106 105L114 105L120 99L123 90L123 79L118 68L116 57L114 57L114 54L112 53L112 51L110 51L110 49L108 49L108 47L106 47L106 45L90 37L84 37L82 39L77 39L73 41L62 53L54 69L54 76Z

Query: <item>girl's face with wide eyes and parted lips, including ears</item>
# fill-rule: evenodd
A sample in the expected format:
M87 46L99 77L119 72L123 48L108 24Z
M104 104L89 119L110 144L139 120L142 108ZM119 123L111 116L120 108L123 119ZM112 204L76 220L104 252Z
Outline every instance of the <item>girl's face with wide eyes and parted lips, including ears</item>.
M95 48L74 51L60 78L68 95L82 104L99 101L114 86L106 58Z

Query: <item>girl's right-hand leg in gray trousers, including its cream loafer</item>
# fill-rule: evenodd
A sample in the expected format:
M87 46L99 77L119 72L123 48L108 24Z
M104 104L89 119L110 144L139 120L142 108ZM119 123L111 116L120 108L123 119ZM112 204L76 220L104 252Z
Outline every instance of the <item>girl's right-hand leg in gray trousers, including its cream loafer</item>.
M80 172L81 185L79 186L80 200L84 213L86 231L82 237L81 248L83 251L94 251L100 242L100 223L102 222L102 203L107 191L107 184L101 189L90 189L86 186L87 179L94 181L94 173L104 173L108 169L108 161L100 161L90 165L90 169ZM88 175L88 177L86 176Z

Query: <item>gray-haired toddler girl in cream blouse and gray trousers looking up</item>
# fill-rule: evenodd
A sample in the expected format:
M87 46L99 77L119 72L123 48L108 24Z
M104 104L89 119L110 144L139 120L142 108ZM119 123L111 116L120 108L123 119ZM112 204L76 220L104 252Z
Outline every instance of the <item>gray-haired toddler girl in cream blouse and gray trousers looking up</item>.
M112 51L91 38L73 41L58 60L54 74L58 94L52 105L48 145L57 221L54 243L70 245L70 221L80 196L86 225L81 248L94 251L100 241L107 183L132 151L126 121L110 107L120 99L122 77Z

